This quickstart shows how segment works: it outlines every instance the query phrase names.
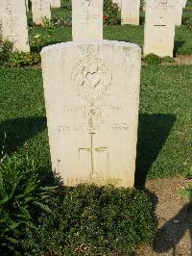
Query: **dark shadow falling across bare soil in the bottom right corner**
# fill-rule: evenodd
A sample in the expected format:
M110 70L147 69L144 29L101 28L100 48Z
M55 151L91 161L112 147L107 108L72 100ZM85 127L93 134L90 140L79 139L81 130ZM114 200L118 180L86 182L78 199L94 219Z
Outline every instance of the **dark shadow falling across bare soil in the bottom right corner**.
M192 203L185 204L180 212L167 221L157 232L153 243L153 249L157 253L168 252L172 249L172 255L177 254L177 244L180 243L186 231L189 232L192 247ZM190 243L190 242L189 242ZM188 244L187 244L188 245ZM189 245L190 246L190 245ZM190 253L190 252L189 252Z

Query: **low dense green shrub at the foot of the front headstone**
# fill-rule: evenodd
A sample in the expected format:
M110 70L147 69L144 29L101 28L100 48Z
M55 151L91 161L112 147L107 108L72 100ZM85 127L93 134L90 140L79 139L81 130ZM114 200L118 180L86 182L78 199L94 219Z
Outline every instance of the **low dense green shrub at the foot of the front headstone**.
M81 185L64 188L53 216L28 228L25 255L128 255L155 231L152 206L140 191Z

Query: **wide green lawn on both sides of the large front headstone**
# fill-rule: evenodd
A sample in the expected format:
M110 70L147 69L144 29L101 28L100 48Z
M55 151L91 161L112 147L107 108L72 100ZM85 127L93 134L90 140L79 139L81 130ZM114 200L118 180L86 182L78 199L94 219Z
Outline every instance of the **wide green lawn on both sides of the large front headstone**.
M29 155L38 171L49 171L41 70L0 69L0 77L0 151ZM142 68L137 185L192 168L191 77L192 65Z

